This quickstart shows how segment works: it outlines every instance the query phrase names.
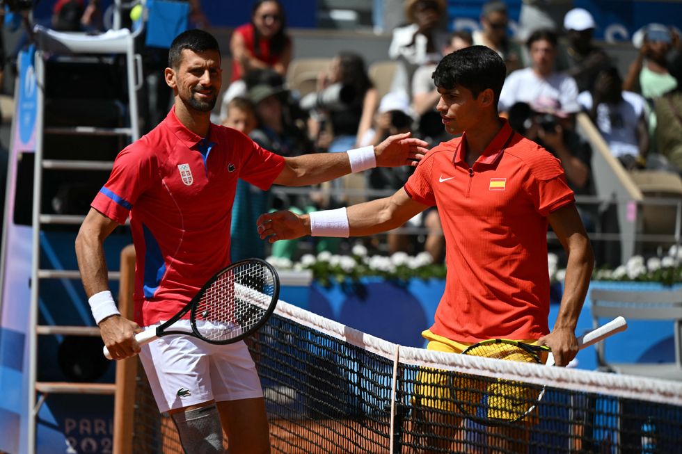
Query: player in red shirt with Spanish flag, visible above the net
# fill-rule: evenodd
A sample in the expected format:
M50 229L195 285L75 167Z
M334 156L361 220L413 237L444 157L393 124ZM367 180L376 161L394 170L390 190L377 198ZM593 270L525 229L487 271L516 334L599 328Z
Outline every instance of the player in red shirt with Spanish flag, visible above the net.
M431 149L390 197L301 216L268 213L259 218L258 230L270 242L310 234L371 235L436 205L448 273L434 325L423 333L428 348L461 352L483 339L537 341L565 366L578 351L574 332L594 257L560 161L498 116L505 74L502 59L484 46L445 56L434 72L441 93L436 108L445 129L461 138ZM548 225L569 257L551 332ZM434 427L433 444L450 447L438 441L445 435L439 430L445 428ZM500 448L514 449L509 443Z

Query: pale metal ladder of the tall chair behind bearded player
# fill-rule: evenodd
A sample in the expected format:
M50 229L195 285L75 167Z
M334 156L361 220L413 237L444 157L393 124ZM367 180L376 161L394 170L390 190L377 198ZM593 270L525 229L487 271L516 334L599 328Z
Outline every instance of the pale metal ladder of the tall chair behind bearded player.
M120 6L120 0L116 0ZM120 24L120 17L116 13L115 26ZM45 279L79 279L78 270L65 269L42 269L41 257L41 234L47 225L80 225L85 216L47 214L42 213L42 191L45 170L77 170L81 172L111 170L113 162L106 161L81 161L63 159L44 159L45 134L76 135L76 136L119 136L127 138L131 143L140 136L138 120L137 92L142 85L141 58L134 53L134 39L142 29L131 33L127 29L109 31L102 35L88 36L72 33L58 33L35 26L34 38L37 44L35 53L35 76L37 81L37 114L36 114L36 137L35 137L35 162L33 168L33 213L32 213L32 265L31 265L31 306L29 308L29 351L31 352L29 366L29 398L28 398L28 443L27 452L35 453L37 419L40 407L49 394L113 394L115 385L109 383L81 383L81 382L38 382L38 337L51 335L75 335L99 337L98 327L89 326L64 326L64 325L39 325L39 302L40 282ZM45 82L46 59L55 55L68 54L71 56L83 55L125 55L126 78L127 78L127 126L125 127L46 127L45 124ZM118 279L118 272L110 272L109 279Z

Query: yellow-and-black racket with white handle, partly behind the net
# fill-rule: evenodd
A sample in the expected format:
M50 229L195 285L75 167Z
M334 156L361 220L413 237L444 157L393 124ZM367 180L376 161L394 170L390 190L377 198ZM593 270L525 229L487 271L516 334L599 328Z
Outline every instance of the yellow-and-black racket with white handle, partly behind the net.
M625 318L614 320L596 330L578 337L578 349L589 347L617 332L625 331ZM509 339L489 339L469 346L462 355L475 355L518 362L554 365L554 358L547 346L534 346ZM454 400L464 416L484 425L499 425L519 421L533 412L545 393L541 384L522 383L514 380L489 379L458 374L454 377L452 390Z

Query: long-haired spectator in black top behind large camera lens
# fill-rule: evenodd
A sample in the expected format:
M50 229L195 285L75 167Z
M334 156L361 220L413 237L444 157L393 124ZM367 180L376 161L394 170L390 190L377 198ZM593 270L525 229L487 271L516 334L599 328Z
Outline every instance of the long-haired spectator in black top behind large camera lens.
M349 88L349 99L319 106L319 115L312 117L308 132L312 137L318 137L328 122L333 134L328 151L341 152L355 147L372 126L372 118L379 105L379 93L367 74L365 60L353 52L340 52L333 58L328 70L319 75L318 92L335 84ZM326 147L324 141L318 143L319 148Z

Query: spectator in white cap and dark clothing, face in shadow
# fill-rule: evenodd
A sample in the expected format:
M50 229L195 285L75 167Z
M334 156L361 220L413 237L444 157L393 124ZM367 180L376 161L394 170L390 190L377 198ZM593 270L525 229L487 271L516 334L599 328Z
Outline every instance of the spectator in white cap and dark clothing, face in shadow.
M592 90L599 71L610 66L606 52L594 45L594 18L583 8L573 8L564 17L564 30L568 43L560 46L557 70L576 79L578 91Z

